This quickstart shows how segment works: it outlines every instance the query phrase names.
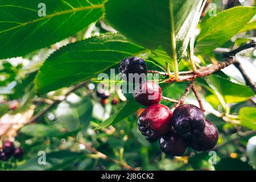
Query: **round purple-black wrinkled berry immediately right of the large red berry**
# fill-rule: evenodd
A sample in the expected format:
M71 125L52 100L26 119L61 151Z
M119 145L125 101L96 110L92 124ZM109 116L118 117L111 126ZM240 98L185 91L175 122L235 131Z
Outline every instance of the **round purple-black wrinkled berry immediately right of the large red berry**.
M185 139L200 137L205 127L205 117L199 107L188 104L181 105L174 110L172 117L174 129Z

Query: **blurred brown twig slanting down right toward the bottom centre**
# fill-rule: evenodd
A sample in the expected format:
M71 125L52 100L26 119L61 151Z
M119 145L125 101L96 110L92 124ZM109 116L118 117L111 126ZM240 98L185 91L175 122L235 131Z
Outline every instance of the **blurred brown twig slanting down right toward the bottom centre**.
M73 138L73 137L72 137ZM73 138L75 139L75 138ZM76 139L75 139L76 140ZM90 146L89 144L82 142L80 140L77 140L78 143L83 144L88 150L92 151L94 154L96 154L99 158L101 159L106 159L106 160L110 160L111 162L115 163L115 164L119 164L120 166L131 170L131 171L137 171L137 169L129 166L128 164L126 164L125 162L120 162L119 160L110 158L109 156L103 154L102 152L97 151L95 148L93 148L92 146Z

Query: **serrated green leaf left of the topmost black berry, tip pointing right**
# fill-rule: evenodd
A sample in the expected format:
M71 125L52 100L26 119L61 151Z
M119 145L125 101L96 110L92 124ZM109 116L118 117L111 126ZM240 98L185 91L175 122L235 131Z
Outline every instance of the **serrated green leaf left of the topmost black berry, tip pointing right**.
M62 47L39 69L35 85L39 93L88 80L144 49L119 34L105 34Z

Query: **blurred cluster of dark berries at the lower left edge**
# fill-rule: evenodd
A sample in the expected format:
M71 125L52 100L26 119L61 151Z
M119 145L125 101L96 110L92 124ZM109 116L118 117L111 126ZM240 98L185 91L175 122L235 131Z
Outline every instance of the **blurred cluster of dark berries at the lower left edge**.
M15 159L21 159L24 152L20 147L14 147L14 143L6 140L3 142L2 150L0 152L0 160L7 161L13 156Z

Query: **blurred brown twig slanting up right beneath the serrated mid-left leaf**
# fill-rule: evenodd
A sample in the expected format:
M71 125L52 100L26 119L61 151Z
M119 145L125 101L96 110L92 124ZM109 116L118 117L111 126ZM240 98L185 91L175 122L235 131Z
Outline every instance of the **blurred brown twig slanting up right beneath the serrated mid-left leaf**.
M36 119L42 117L42 115L46 114L50 109L52 109L52 107L54 107L55 105L59 104L61 101L65 100L65 99L69 96L69 94L71 94L72 92L75 92L75 91L76 91L77 89L79 89L81 86L84 86L84 85L86 84L86 82L88 82L88 81L84 81L84 82L81 82L81 83L75 85L71 90L69 90L69 91L64 95L64 97L63 97L62 100L55 100L55 101L53 101L51 105L49 105L49 106L46 107L46 109L44 109L44 110L40 111L38 114L34 115L34 116L30 119L30 121L28 121L28 123L31 123L31 122L35 121Z

